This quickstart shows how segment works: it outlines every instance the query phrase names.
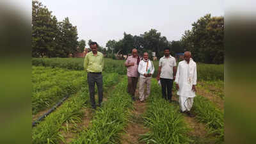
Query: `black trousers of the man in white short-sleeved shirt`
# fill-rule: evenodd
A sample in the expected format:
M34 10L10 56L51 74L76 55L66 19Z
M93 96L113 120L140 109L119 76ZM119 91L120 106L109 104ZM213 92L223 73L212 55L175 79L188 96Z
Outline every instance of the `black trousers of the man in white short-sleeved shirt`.
M172 100L172 86L173 86L173 79L163 79L160 78L161 86L162 86L162 96L164 99ZM167 89L167 95L166 95Z

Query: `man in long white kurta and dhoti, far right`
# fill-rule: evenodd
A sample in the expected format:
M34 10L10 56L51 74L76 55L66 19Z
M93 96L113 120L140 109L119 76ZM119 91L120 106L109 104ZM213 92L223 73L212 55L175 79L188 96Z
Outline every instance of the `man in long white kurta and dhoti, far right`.
M184 60L180 61L177 68L175 83L179 95L180 110L191 115L193 98L196 96L196 63L191 58L191 52L184 52Z

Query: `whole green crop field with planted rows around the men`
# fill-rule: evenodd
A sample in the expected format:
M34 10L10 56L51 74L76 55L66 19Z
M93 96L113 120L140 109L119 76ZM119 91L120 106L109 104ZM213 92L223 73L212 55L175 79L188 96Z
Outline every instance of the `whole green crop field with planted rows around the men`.
M69 96L32 128L32 143L224 143L223 109L212 101L225 98L223 65L197 64L200 94L194 99L195 117L189 118L179 113L175 86L175 102L166 102L155 78L148 99L132 101L127 93L125 61L109 58L104 58L102 107L92 110L83 60L32 59L33 117ZM156 77L158 61L154 66Z

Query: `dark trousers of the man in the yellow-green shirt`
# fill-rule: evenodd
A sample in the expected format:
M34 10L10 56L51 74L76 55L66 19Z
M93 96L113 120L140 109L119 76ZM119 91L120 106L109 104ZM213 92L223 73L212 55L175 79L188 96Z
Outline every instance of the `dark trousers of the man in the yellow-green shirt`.
M89 85L90 100L91 100L92 108L95 109L96 108L95 95L94 95L95 94L95 83L97 84L97 88L98 88L99 106L100 106L100 104L102 102L102 98L103 98L102 74L88 72L87 82Z

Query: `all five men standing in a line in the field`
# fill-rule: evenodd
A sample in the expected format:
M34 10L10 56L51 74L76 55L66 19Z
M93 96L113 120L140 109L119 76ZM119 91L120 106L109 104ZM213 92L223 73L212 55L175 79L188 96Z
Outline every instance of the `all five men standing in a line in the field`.
M104 66L103 54L97 51L97 42L90 44L92 52L86 54L84 58L84 70L87 72L87 81L90 92L90 101L92 108L96 109L95 104L95 83L98 88L99 104L101 105L103 97L102 70ZM131 99L135 100L136 86L139 81L139 102L144 102L150 95L150 84L155 68L151 60L148 59L148 53L143 53L143 58L138 56L137 49L132 49L132 55L125 61L127 67L128 86L127 92ZM140 79L139 79L140 78ZM163 99L172 102L173 81L179 95L180 112L188 113L192 116L190 110L193 105L193 97L196 92L196 63L191 58L191 52L184 52L184 60L180 61L177 68L176 60L170 55L168 48L164 49L164 56L159 60L159 68L156 77L161 84ZM146 88L146 91L145 91Z

